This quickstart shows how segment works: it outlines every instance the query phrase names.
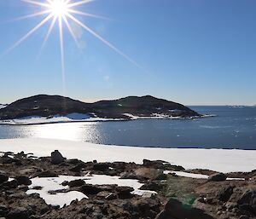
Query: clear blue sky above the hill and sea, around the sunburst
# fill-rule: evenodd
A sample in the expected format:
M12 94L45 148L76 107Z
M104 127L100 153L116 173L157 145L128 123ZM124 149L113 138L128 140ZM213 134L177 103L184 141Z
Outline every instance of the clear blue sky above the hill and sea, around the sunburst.
M40 9L0 1L0 54L44 16L8 20ZM154 95L186 105L256 104L255 0L96 0L77 9L108 17L77 16L143 69L72 24L79 48L64 29L65 95L83 101ZM57 26L40 53L49 23L0 57L1 103L63 94Z

